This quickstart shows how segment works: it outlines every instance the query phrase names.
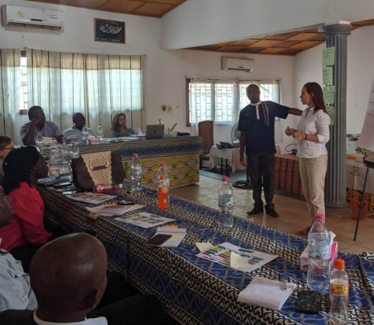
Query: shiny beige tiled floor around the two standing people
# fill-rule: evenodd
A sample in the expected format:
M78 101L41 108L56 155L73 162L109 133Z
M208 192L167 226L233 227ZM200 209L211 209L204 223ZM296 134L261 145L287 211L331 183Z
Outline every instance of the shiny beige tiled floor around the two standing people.
M200 175L198 184L186 187L174 188L171 194L198 202L211 208L217 208L217 190L220 179ZM246 211L252 209L253 199L251 189L234 188L234 208L236 216L252 220L268 227L296 235L296 231L309 224L309 215L305 201L274 194L275 209L279 218L273 218L266 214L247 215ZM336 234L339 251L359 254L362 251L374 252L374 218L366 218L360 221L356 241L353 241L356 221L350 217L336 215L326 216L326 225ZM306 239L305 236L300 236Z

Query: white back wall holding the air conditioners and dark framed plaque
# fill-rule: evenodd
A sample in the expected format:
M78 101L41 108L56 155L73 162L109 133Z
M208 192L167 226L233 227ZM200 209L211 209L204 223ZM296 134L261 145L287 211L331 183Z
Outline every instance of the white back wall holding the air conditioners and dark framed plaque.
M160 49L161 21L158 18L96 11L84 8L59 6L30 1L3 1L44 8L60 8L65 12L63 32L35 28L0 27L2 48L36 48L53 51L96 53L96 54L145 54L144 58L144 111L143 128L161 118L167 127L177 123L176 130L191 132L185 124L185 76L210 78L281 79L281 101L293 104L293 59L290 56L240 55L255 59L255 71L222 71L221 53ZM93 40L93 18L107 18L126 22L126 44L111 44ZM161 111L161 105L172 105L172 112ZM19 116L20 122L27 115ZM276 123L276 142L283 140L283 129L292 124L293 116L287 121ZM133 125L140 126L140 125ZM107 126L108 127L108 126ZM231 126L216 126L215 142L229 140ZM286 139L288 141L289 138Z

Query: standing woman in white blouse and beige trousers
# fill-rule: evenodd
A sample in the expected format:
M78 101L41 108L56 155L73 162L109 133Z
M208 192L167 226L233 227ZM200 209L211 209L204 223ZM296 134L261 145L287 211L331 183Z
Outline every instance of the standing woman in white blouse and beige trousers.
M307 82L301 89L301 102L307 105L297 129L286 128L285 134L297 139L297 156L302 190L310 215L310 225L297 234L308 234L315 213L324 214L324 177L327 170L326 143L330 138L330 117L326 112L323 92L316 82Z

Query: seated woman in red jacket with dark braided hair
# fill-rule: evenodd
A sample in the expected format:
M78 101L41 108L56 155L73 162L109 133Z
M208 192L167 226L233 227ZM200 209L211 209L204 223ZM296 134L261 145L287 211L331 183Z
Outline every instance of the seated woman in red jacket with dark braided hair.
M0 248L22 260L28 272L29 262L50 233L44 229L44 202L36 190L38 178L48 175L48 167L34 146L13 149L3 164L4 192L11 200L13 218L0 229Z

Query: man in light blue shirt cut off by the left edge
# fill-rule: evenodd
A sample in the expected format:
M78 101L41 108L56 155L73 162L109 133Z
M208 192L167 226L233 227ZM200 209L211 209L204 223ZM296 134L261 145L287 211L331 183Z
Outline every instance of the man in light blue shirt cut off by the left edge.
M9 197L4 194L1 186L0 211L0 227L10 224L13 209ZM34 309L36 306L36 298L31 289L30 277L23 271L21 262L15 260L6 250L0 249L0 311L7 309Z

